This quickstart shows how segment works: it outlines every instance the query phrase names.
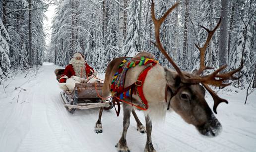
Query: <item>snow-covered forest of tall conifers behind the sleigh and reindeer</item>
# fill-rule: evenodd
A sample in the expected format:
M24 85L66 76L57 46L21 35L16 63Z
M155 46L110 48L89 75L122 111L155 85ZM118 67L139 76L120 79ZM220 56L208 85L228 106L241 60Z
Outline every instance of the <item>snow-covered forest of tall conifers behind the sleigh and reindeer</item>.
M234 83L244 87L253 79L256 66L255 0L178 0L179 6L162 25L163 46L186 71L198 68L199 51L207 32L222 16L206 52L206 65L228 70L244 62L242 78ZM155 0L157 17L176 0ZM51 43L46 46L44 12L51 4L55 10ZM65 66L74 52L81 52L97 71L104 72L115 57L152 52L170 68L170 63L150 43L154 26L151 0L1 0L0 2L0 78L15 71L29 70L43 61ZM199 6L199 7L198 7ZM254 80L256 85L256 79Z

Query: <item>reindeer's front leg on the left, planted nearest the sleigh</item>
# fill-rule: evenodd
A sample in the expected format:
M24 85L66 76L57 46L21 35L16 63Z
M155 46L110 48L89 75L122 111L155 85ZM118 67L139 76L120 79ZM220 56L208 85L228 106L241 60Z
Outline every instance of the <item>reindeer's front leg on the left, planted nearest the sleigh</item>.
M123 122L123 133L122 133L122 137L120 138L118 144L116 145L116 147L118 148L118 152L130 152L130 150L128 149L127 146L127 142L126 142L126 134L127 134L127 130L130 124L130 111L131 111L131 106L124 103L123 104L123 109L124 109L124 122Z

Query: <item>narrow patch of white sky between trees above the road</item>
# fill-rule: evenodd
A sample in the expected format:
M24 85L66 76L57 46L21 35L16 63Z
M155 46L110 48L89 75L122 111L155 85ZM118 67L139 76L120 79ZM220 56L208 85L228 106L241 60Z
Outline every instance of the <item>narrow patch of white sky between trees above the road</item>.
M46 32L46 45L49 46L50 45L50 41L51 41L51 33L52 33L52 29L51 29L51 26L52 26L52 19L55 15L55 10L56 8L56 5L50 5L47 9L47 11L45 12L45 15L48 19L45 19L44 20L44 30Z

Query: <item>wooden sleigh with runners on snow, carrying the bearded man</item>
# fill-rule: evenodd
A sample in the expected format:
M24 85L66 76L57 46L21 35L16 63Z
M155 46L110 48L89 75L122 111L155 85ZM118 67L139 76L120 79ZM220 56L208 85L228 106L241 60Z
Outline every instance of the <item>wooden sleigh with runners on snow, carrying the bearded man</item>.
M64 106L70 113L73 113L75 109L104 107L105 110L109 110L113 108L114 104L111 99L102 102L100 98L102 87L103 83L76 83L73 91L61 91Z

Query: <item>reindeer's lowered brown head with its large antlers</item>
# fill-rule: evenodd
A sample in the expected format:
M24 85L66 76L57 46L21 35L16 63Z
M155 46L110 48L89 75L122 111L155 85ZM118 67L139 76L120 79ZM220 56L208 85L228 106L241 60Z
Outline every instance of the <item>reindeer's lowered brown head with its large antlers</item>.
M196 48L200 51L200 67L195 73L188 73L181 71L172 58L167 54L163 48L160 38L159 38L159 29L161 24L164 22L168 14L178 5L174 4L167 12L163 15L162 18L156 19L154 12L154 2L152 0L151 4L151 16L155 26L155 39L156 43L153 43L168 59L168 61L175 68L176 72L171 71L170 69L165 69L166 71L166 80L167 85L171 89L172 99L170 101L170 107L177 112L187 123L194 125L197 130L202 135L207 136L216 136L221 130L221 124L215 118L210 107L205 101L204 88L210 93L214 100L213 111L217 114L216 108L221 102L228 101L219 98L214 91L210 89L208 85L217 86L217 87L226 87L230 83L224 83L227 80L236 80L238 78L234 77L233 74L242 69L243 64L236 70L230 72L219 73L224 70L227 65L221 66L219 69L211 73L210 75L202 75L203 71L206 69L212 69L211 67L206 67L204 63L204 54L209 44L211 37L214 32L220 25L221 20L216 25L216 27L210 31L205 27L201 26L208 32L208 37L203 45L200 48L199 45L195 45ZM203 88L204 87L204 88Z

